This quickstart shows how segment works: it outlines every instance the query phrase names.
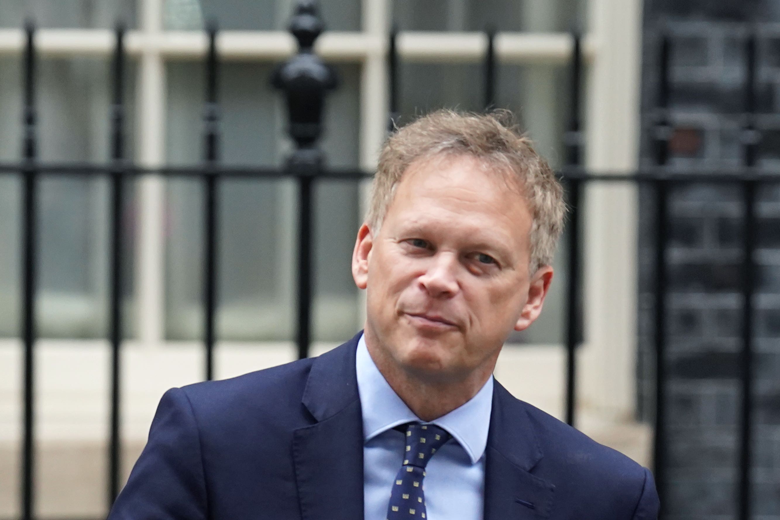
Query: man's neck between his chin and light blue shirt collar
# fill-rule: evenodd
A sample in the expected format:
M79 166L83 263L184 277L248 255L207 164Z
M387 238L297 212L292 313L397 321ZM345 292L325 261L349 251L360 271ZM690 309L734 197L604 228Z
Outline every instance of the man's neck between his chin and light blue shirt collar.
M424 376L418 377L404 370L369 338L366 338L366 347L374 365L395 394L424 421L438 419L464 405L488 382L495 367L494 359L488 366L474 370L463 379L426 380Z

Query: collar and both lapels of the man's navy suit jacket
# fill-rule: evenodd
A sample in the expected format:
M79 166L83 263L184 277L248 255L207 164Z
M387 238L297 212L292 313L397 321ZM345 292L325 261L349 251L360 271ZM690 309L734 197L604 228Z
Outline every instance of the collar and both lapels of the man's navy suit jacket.
M363 417L355 375L360 333L312 361L302 402L317 421L293 432L301 517L363 518ZM555 486L531 474L544 456L527 405L493 387L484 520L551 515Z

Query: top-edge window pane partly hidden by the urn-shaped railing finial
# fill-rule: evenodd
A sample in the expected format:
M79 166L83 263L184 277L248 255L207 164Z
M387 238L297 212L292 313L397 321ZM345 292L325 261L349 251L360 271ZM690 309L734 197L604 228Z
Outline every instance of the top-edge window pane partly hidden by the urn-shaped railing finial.
M293 16L293 0L165 0L163 23L167 29L193 30L215 19L228 30L286 29ZM360 0L320 3L327 30L360 30Z

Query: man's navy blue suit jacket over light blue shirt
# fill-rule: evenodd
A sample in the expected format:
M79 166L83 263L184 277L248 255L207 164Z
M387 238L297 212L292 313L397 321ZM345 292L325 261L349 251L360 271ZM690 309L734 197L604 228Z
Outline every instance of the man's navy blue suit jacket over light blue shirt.
M363 518L358 338L317 358L167 391L109 520ZM486 520L657 517L647 469L494 388Z

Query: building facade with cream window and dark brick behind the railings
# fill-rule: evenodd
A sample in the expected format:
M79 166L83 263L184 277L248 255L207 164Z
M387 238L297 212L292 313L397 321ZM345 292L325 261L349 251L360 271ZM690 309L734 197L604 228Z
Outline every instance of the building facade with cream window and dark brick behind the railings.
M294 4L293 0L4 2L0 11L0 161L20 158L20 27L27 16L33 16L41 28L37 102L42 160L108 159L111 31L115 20L123 19L129 29L130 80L125 93L129 157L150 168L199 164L203 159L202 27L216 19L223 31L219 77L222 162L282 164L290 143L285 137L285 111L269 80L275 63L293 51L285 26ZM733 41L746 34L739 20L770 16L761 9L771 9L771 3L714 5L647 0L643 21L639 0L321 2L328 33L318 50L335 66L341 80L339 89L328 98L321 147L329 165L374 168L388 123L386 45L392 22L402 31L401 122L441 106L484 108L483 31L492 27L499 31L497 105L515 111L541 153L555 167L560 166L570 103L568 33L577 28L585 36L588 71L582 110L586 165L593 172L631 172L640 157L650 160L649 152L639 148L640 134L642 142L647 142L647 125L642 123L649 121L651 112L658 27L671 22L669 27L686 42L675 46L675 60L679 60L674 65L675 91L683 93L675 101L675 118L679 117L679 131L686 138L676 141L682 151L675 161L722 164L732 159L737 164L741 108L733 106L739 97L729 92L728 85L739 90L741 65L733 55ZM690 21L693 17L699 21ZM730 21L724 23L726 18ZM775 65L771 53L767 56L766 83L771 85ZM705 72L709 83L700 80ZM773 99L767 94L767 102ZM731 103L731 108L723 108L724 103ZM772 153L771 146L767 150ZM222 183L218 377L294 358L295 188L287 180ZM355 182L317 186L315 353L349 338L363 322L360 294L349 274L349 256L366 188L365 183ZM158 177L138 179L129 186L122 420L125 472L143 445L162 392L201 377L201 189L194 180ZM0 176L0 243L5 244L0 255L0 518L14 517L18 506L20 194L19 179ZM670 305L675 320L670 331L674 347L670 367L675 380L669 405L676 440L670 450L675 472L670 475L673 492L668 511L675 518L733 518L739 406L733 370L739 348L739 300L733 294L736 289L728 284L739 279L734 272L739 264L734 253L739 240L738 200L737 193L693 189L675 193L672 203L675 239L670 262L675 294ZM767 211L762 218L763 236L769 241L764 243L770 245L777 239L771 226L771 211L778 211L771 209L773 200L762 199ZM589 187L585 224L580 230L586 251L578 426L644 464L651 462L647 423L653 409L651 322L647 319L652 312L647 305L652 277L651 254L647 253L652 246L652 222L647 217L652 214L650 203L651 197L640 196L635 186ZM702 214L702 207L711 213ZM107 211L105 179L52 175L41 182L37 501L42 518L97 518L104 507ZM564 383L560 345L565 255L563 246L542 320L528 334L512 337L496 370L498 379L519 398L558 417L562 416ZM725 259L731 259L728 265ZM771 268L771 260L764 264ZM765 292L771 292L777 279L768 275L762 286ZM701 287L711 283L724 290L704 294ZM777 307L771 295L767 298L767 307ZM759 334L767 339L759 347L761 370L780 371L780 355L770 341L777 327L771 313L759 313L763 327ZM769 381L771 374L764 379ZM771 392L767 391L767 404L761 405L763 412L757 416L762 423L757 430L755 471L762 498L756 511L761 511L764 520L780 518L780 511L773 509L780 507L776 505L780 500L771 501L772 490L777 489L771 486L778 482L780 468L780 437L771 426L778 423L771 415L777 411L778 398ZM66 481L80 485L64 486Z

